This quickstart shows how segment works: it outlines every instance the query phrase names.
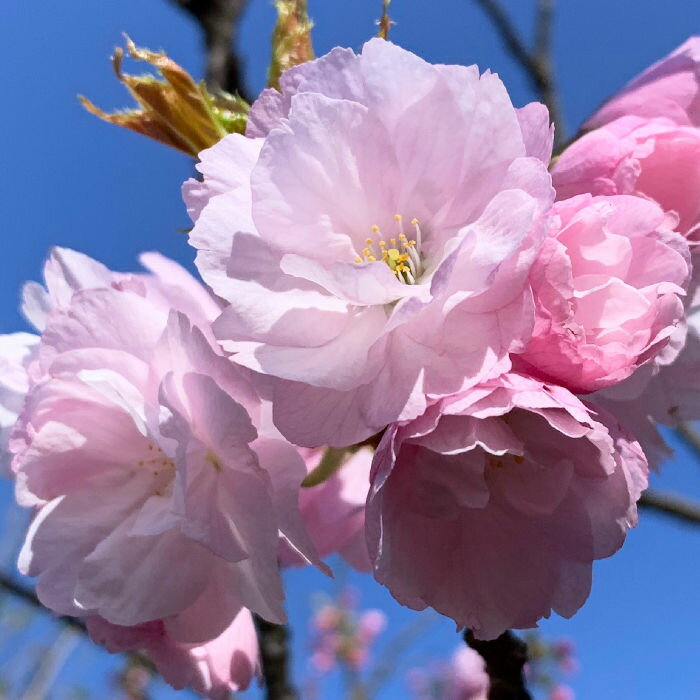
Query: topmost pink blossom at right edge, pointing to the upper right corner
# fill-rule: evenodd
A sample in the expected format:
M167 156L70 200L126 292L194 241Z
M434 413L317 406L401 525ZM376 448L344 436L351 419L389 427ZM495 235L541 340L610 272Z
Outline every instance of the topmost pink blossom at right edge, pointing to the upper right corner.
M585 126L602 126L630 114L667 117L679 125L700 126L700 37L691 37L647 68L606 102Z

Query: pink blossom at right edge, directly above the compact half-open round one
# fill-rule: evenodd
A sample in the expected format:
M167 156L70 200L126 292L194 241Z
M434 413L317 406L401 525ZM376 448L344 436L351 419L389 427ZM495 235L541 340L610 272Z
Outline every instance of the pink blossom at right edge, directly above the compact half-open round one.
M700 129L668 119L622 117L574 141L552 169L558 199L634 194L656 201L696 242L700 226Z

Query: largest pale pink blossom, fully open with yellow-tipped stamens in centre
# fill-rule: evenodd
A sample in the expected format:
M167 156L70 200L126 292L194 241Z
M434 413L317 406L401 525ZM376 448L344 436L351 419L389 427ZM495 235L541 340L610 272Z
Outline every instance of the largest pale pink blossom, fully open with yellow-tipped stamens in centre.
M496 75L377 39L291 69L248 137L200 155L184 194L229 303L214 330L274 378L288 439L356 443L508 368L532 329L551 136Z

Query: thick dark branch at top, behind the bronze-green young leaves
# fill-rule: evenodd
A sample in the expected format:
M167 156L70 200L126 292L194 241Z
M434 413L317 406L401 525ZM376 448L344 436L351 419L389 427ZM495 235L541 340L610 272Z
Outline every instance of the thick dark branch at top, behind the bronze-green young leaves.
M248 0L171 0L199 24L207 49L207 87L225 90L250 102L243 64L236 48L238 23Z

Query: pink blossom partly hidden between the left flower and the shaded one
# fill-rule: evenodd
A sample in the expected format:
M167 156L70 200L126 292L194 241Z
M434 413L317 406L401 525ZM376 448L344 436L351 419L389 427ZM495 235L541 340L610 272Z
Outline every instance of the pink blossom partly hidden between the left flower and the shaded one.
M322 449L302 450L309 473L318 467ZM351 454L330 478L299 491L299 511L304 527L320 557L338 553L358 571L372 566L365 542L365 503L369 491L372 450L363 448ZM285 547L283 566L306 564L307 561Z

